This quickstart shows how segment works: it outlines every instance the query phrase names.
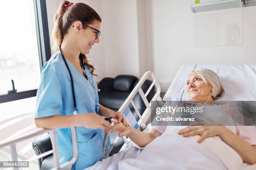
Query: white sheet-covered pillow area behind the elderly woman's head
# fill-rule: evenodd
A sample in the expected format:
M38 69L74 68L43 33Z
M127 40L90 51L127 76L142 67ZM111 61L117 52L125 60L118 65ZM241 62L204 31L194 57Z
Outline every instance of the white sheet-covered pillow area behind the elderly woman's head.
M174 77L163 100L186 101L182 95L187 76L195 65L182 66ZM256 101L256 65L197 65L196 69L207 68L217 73L225 90L221 101Z

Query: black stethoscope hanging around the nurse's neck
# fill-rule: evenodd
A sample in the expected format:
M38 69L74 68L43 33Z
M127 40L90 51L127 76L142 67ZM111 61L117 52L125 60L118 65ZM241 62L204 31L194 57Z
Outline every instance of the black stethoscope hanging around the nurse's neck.
M76 98L75 98L75 94L74 94L74 80L73 80L71 71L70 71L70 69L69 69L69 66L67 65L67 60L65 59L65 57L64 57L64 55L63 55L63 53L62 53L60 47L59 47L59 51L60 51L60 53L61 53L62 59L63 59L64 62L65 62L65 65L66 65L66 67L67 67L67 70L69 71L69 76L70 76L70 79L71 79L73 103L74 103L73 115L77 115L77 104L76 104ZM87 73L85 72L85 68L84 68L84 65L82 64L81 59L80 59L80 65L82 66L82 70L83 70L83 72L84 72L84 75L87 77L87 79L89 79L89 81L91 82L92 87L95 89L95 92L99 92L100 89L98 89L97 87L95 87L95 85L92 83L92 80L90 80L90 78L88 77Z

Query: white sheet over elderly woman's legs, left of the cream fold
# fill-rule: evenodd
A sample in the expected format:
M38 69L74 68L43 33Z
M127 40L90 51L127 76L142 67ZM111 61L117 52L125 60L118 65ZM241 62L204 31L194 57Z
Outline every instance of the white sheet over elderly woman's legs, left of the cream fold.
M146 132L152 130L148 125ZM173 127L172 127L173 128ZM225 165L207 148L166 131L144 150L130 144L112 157L98 161L86 170L226 170Z

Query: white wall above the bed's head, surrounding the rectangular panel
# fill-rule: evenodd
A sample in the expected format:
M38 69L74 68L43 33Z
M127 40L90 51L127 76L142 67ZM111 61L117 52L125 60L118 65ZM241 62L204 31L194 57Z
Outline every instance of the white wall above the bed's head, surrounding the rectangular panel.
M241 45L194 47L195 14L190 5L191 0L152 0L154 72L162 92L182 65L256 64L256 6L242 8Z

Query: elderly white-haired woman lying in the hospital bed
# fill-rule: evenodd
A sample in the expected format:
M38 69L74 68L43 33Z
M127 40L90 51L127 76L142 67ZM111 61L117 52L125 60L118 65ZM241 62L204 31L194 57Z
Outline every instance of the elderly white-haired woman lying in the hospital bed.
M218 75L208 69L193 70L187 77L186 91L189 100L206 101L205 103L217 100L224 94ZM119 132L119 137L128 135L138 146L145 147L164 133L166 126L156 126L150 133L146 133L119 123L111 128L110 132L114 130ZM219 136L224 143L240 155L244 163L256 164L256 129L254 126L236 126L236 132L230 130L228 126L188 126L179 130L179 135L185 138L200 135L198 143L202 143L206 138Z

